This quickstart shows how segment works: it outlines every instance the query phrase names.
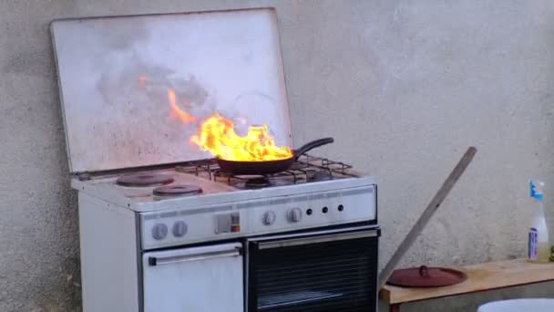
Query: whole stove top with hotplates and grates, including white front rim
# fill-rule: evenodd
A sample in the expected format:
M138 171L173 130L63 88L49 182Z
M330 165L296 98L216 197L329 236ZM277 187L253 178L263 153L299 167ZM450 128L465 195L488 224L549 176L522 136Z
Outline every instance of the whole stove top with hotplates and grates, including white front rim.
M104 172L73 179L72 185L108 202L148 212L165 210L174 204L199 207L295 193L330 192L370 183L361 178L367 176L354 172L349 164L304 155L289 170L269 175L229 174L210 159L140 172Z

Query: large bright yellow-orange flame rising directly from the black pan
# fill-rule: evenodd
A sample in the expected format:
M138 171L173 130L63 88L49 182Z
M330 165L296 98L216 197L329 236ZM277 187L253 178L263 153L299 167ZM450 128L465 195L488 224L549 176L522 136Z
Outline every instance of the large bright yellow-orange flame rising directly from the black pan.
M288 146L276 146L267 125L250 126L241 137L230 119L212 114L200 125L190 142L228 161L275 161L292 157Z

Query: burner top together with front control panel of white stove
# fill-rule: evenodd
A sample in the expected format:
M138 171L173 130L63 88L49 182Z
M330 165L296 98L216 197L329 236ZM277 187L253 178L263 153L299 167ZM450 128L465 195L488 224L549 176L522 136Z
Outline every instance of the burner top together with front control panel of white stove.
M235 176L207 160L86 175L72 185L139 213L141 247L148 250L375 220L374 179L349 167L304 156L287 172Z

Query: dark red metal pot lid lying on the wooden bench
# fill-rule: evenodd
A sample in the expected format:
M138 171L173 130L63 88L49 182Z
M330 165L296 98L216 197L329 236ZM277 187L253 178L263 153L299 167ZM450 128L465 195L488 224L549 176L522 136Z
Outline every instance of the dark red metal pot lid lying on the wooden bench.
M387 284L402 287L451 286L467 279L464 272L443 267L411 267L395 270Z

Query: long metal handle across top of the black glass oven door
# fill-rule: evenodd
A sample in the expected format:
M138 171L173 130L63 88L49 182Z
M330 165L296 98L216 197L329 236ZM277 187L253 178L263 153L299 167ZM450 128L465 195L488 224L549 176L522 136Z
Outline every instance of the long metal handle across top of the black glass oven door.
M333 242L333 241L344 241L347 239L375 237L378 235L379 235L378 231L373 230L373 231L364 231L364 232L326 234L321 236L297 237L297 238L290 238L290 239L286 239L283 237L282 240L275 240L275 241L269 241L269 242L253 241L252 243L257 244L258 249L270 249L270 248L296 246L301 244L318 244L318 243L326 243L326 242Z

